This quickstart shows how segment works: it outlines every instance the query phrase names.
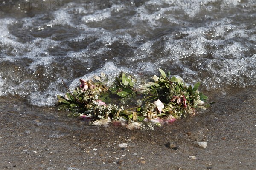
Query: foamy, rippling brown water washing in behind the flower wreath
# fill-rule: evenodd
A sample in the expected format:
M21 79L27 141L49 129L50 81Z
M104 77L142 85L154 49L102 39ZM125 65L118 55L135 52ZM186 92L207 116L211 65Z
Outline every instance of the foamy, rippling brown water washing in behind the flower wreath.
M0 95L55 105L78 78L157 68L205 91L255 85L253 0L1 1Z

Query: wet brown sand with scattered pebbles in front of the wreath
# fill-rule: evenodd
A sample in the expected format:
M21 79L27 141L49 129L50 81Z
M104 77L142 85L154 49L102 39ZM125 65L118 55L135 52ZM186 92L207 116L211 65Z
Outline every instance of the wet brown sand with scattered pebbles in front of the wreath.
M255 88L205 94L217 102L212 108L155 130L87 126L57 108L1 97L0 169L254 170Z

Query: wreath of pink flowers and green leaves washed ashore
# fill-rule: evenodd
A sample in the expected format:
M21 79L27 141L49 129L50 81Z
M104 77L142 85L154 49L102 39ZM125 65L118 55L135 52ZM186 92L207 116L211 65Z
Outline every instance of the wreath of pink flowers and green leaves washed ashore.
M71 111L68 116L97 120L97 125L112 121L132 129L140 127L134 122L153 122L160 126L195 114L195 108L209 106L205 104L207 96L198 91L200 82L192 88L180 78L169 78L163 70L159 71L160 77L154 75L152 82L139 88L134 88L136 80L125 73L116 77L111 87L106 86L105 74L95 76L94 81L79 79L81 85L73 92L68 90L65 96L57 95L59 109Z

